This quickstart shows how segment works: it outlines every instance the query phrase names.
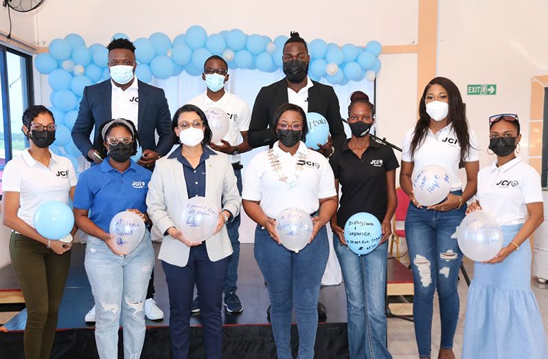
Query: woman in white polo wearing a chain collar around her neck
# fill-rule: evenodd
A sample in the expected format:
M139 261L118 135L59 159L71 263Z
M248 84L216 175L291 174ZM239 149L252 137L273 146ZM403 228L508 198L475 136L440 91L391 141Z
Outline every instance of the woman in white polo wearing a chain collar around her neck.
M257 223L255 259L268 283L277 357L292 358L290 328L295 304L299 359L312 359L319 289L329 255L325 225L337 207L334 176L328 160L304 144L308 126L301 107L279 106L273 127L278 141L249 162L242 205ZM312 213L314 222L310 243L299 253L281 246L275 230L275 218L290 207Z

